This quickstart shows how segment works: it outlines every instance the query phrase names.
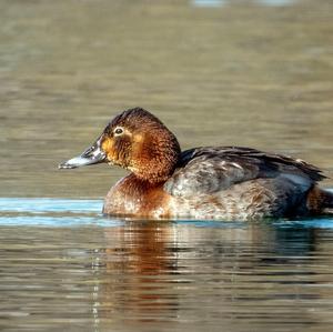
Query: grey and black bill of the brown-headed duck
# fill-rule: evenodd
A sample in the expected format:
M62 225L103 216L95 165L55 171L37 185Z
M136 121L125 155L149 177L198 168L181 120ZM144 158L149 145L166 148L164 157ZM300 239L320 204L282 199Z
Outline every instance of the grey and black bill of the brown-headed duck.
M102 137L100 137L90 148L81 155L74 157L59 164L59 169L75 169L82 165L104 162L107 154L101 149Z

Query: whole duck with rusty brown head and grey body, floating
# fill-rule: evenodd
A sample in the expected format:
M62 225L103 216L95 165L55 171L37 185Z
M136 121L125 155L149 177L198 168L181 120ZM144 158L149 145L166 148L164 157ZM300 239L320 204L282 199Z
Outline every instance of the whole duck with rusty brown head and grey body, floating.
M109 217L248 221L333 211L333 193L317 185L326 177L315 165L243 147L181 151L142 108L115 115L90 148L59 168L104 162L129 171L104 199Z

